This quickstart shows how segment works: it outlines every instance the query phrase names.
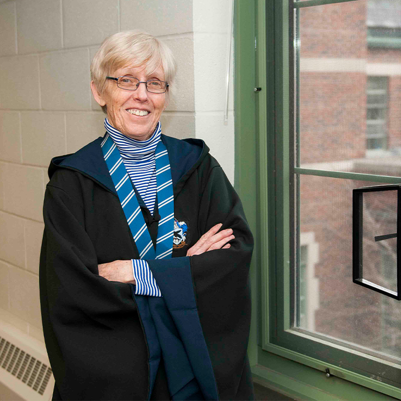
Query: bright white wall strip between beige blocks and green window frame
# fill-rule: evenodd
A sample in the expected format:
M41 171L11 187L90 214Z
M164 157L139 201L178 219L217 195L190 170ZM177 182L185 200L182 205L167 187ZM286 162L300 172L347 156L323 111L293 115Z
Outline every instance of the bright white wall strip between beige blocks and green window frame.
M192 5L195 137L205 140L233 183L233 68L228 121L224 121L231 7L232 0L193 0Z

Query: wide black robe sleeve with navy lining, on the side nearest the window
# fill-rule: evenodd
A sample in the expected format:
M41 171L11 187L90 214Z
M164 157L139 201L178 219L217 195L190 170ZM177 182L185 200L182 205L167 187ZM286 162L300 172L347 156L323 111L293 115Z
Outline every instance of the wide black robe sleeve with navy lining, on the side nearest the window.
M219 165L213 167L207 176L201 176L199 183L202 195L198 237L216 224L223 223L222 229L232 228L236 237L230 241L231 247L191 257L148 261L148 264L170 312L183 308L183 305L187 311L192 307L188 291L188 286L191 287L220 399L236 399L241 393L239 391L243 397L253 399L246 355L251 319L248 274L253 236L241 200ZM186 312L183 321L187 321L188 316ZM175 323L182 327L178 328L184 334L180 331L181 338L188 337L195 342L194 334L185 334L187 325L180 325L179 318L175 318ZM195 326L193 321L190 329ZM197 349L201 344L202 339L198 338ZM185 344L187 352L190 345L190 341ZM196 363L192 363L192 368L196 369ZM194 373L199 381L199 374ZM245 391L239 389L240 382L245 383Z

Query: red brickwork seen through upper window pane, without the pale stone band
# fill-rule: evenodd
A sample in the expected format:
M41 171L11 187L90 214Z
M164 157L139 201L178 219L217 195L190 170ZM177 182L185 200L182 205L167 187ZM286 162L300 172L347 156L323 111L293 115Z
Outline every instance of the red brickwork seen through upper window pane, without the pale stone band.
M365 8L364 1L301 8L301 59L317 58L324 61L338 58L361 59L367 64L401 63L401 50L367 48ZM341 69L341 60L338 68ZM385 68L382 70L385 71ZM392 73L390 67L388 148L401 146L401 77L390 76ZM302 163L364 157L365 85L364 72L301 71Z

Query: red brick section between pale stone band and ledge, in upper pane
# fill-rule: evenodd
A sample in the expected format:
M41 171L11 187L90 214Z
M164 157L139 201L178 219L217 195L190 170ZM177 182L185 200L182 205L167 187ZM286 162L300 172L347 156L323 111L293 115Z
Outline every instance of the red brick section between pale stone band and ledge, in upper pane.
M365 82L361 73L300 74L301 163L365 155Z

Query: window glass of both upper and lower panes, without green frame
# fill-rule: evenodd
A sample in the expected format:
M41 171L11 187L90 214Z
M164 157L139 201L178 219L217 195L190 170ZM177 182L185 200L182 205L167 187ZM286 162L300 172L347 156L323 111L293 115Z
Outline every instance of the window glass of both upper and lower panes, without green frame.
M396 367L401 303L352 282L352 189L377 185L380 176L401 177L400 30L399 0L295 13L292 328ZM349 176L330 177L335 172ZM377 182L356 179L358 173ZM364 273L394 290L396 239L374 237L396 232L396 198L368 196Z

